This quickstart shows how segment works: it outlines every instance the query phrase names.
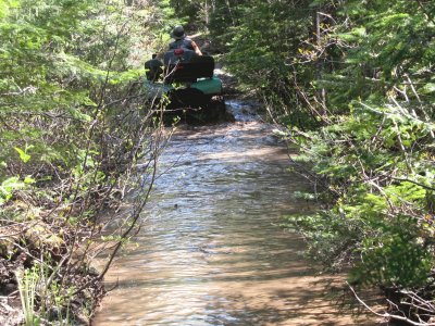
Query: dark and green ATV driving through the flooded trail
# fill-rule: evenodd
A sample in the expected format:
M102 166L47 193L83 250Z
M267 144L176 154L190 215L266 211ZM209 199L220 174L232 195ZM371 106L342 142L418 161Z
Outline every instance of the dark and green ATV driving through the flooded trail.
M212 115L224 113L222 80L214 75L213 57L175 49L164 53L163 62L153 54L145 67L144 87L150 101L169 99L169 111L192 109Z

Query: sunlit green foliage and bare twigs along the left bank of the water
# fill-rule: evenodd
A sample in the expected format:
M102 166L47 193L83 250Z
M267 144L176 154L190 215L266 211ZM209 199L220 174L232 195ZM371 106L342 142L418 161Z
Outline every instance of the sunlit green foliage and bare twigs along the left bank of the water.
M27 325L70 325L71 302L98 285L80 274L98 213L128 191L151 142L138 85L161 26L157 8L136 2L0 0L0 215L12 246L1 259L25 264Z

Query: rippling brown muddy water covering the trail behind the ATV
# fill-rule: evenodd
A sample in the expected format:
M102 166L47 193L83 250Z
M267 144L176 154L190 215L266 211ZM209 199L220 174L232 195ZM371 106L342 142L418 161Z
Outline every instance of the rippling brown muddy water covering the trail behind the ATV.
M281 216L309 210L286 150L249 105L237 122L182 128L162 158L138 248L108 276L95 324L355 325L324 298Z

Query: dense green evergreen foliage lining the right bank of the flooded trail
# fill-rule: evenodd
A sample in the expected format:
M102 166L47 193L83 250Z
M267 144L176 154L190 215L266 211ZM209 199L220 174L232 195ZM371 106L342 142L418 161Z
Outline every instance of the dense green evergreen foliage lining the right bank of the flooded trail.
M435 4L252 0L233 9L212 17L211 34L223 35L243 87L288 128L324 204L288 217L310 255L348 267L353 285L433 297Z

